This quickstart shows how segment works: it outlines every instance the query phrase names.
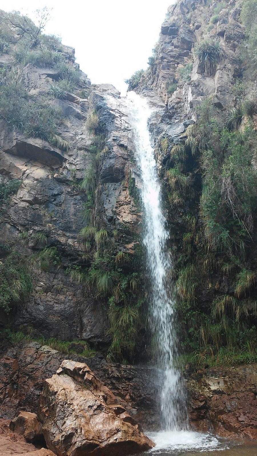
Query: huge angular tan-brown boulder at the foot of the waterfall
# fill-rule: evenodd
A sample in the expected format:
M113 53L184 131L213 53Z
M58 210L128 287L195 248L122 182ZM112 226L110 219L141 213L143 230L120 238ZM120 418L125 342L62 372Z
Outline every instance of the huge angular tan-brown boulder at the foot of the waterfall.
M58 456L119 455L154 446L86 364L64 360L39 404L47 446Z

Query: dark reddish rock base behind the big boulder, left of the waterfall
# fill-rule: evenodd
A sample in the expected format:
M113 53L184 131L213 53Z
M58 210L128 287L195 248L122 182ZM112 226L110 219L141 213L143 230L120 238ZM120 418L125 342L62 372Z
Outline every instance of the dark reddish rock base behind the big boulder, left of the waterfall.
M67 355L37 342L9 347L0 358L0 418L15 418L20 410L37 413L43 383ZM155 382L150 368L107 363L101 356L83 358L130 415L142 425L156 423Z

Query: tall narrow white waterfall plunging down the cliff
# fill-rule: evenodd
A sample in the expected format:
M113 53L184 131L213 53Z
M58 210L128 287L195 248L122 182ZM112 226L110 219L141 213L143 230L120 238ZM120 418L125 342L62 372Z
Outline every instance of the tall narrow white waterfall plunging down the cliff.
M160 377L161 430L182 430L187 429L187 412L183 380L174 365L177 357L177 328L172 289L167 285L167 275L172 267L166 250L169 233L165 228L161 187L148 130L148 119L153 114L153 109L145 98L134 92L129 92L127 104L129 123L134 133L136 160L142 179L144 244L150 279L150 326L155 345L155 363Z

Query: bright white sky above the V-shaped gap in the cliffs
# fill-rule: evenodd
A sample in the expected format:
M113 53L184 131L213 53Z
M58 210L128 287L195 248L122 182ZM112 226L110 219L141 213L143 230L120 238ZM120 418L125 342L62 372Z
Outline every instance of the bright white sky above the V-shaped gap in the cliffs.
M45 32L75 47L76 61L92 83L124 91L127 79L147 67L167 8L175 0L2 0L5 11L52 8Z

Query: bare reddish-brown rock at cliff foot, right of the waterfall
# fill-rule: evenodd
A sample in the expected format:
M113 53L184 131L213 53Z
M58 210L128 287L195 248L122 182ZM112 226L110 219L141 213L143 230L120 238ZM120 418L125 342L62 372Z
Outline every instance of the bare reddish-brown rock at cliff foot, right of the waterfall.
M257 365L216 368L188 381L189 416L198 430L257 439Z

